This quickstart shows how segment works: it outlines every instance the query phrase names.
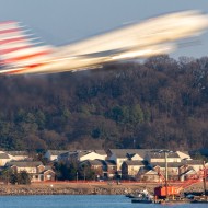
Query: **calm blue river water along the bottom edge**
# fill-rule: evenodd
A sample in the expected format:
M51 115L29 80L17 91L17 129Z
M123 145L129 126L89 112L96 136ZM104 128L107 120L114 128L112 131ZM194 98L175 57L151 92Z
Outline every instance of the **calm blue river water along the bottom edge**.
M141 205L118 195L0 196L0 208L207 208L206 204Z

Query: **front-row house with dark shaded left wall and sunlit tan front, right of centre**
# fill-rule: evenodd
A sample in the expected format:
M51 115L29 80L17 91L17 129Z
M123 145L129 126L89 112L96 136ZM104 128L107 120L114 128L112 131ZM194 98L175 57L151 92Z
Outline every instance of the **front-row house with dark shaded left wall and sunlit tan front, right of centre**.
M135 178L139 170L143 167L145 164L142 161L131 161L127 160L122 164L122 178Z

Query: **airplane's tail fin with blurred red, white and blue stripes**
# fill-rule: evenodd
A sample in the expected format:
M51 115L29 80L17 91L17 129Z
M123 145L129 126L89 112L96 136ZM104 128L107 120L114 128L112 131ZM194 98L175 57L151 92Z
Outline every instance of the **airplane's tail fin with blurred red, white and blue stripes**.
M50 58L51 46L42 46L19 22L0 23L0 67L36 67Z

